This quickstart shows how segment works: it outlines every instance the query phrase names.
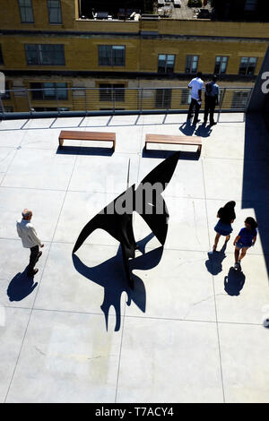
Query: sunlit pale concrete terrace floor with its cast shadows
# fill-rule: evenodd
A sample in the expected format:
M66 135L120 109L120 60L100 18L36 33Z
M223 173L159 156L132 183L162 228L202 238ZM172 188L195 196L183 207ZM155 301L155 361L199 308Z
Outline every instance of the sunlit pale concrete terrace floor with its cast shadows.
M0 401L269 402L268 138L259 119L242 114L223 114L211 129L185 121L0 123ZM57 150L67 127L116 132L116 152L71 141ZM179 147L164 193L163 251L134 215L146 254L131 262L127 297L116 240L97 230L74 261L72 249L84 224L126 189L129 162L131 185L169 155L163 148L145 154L145 133L200 134L203 149L199 157L195 147ZM237 202L234 232L212 255L216 213L230 200ZM15 228L24 207L45 243L34 281L24 278L29 252ZM258 219L259 236L238 274L232 241L247 216ZM111 305L108 330L103 302Z

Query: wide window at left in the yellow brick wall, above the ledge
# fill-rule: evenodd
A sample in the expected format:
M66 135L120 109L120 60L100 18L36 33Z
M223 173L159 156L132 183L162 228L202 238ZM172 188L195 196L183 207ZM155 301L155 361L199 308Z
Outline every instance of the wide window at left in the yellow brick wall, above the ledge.
M25 51L30 65L65 64L65 46L60 44L26 44Z

